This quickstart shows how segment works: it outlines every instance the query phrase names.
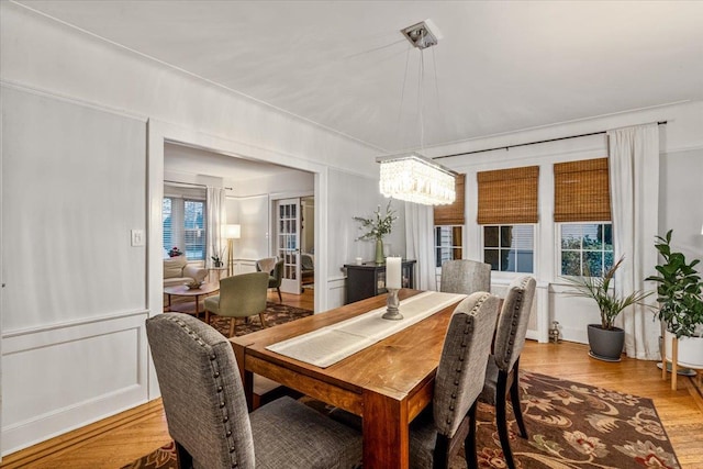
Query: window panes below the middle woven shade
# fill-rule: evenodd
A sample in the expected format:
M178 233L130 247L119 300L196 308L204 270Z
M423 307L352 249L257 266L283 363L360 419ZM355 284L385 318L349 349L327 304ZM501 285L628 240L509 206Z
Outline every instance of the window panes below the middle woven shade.
M483 261L501 272L534 272L533 225L483 226Z

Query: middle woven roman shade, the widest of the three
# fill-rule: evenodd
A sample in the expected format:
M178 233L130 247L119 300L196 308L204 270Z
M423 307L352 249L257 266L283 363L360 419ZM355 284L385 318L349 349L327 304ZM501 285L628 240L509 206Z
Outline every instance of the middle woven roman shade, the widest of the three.
M480 225L537 223L539 166L478 174Z

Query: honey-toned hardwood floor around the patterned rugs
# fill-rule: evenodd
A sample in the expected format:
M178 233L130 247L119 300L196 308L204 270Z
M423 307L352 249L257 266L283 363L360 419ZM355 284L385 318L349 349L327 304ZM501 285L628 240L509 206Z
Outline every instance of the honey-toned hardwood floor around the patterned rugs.
M310 292L310 291L309 291ZM311 292L310 292L311 293ZM289 298L290 297L290 298ZM312 309L309 298L286 295L284 303ZM277 301L276 297L275 300ZM654 400L683 468L703 468L703 399L691 378L677 391L652 361L624 358L599 361L585 345L537 344L528 340L521 358L525 370L551 375ZM1 468L120 468L170 440L160 401L141 405L99 423L3 458Z

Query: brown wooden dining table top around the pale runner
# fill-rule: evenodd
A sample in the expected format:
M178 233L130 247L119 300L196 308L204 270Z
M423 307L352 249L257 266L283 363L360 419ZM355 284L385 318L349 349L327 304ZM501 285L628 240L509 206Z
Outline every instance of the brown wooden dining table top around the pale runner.
M417 293L420 293L417 290L402 289L399 297L403 300ZM247 370L254 369L254 372L258 372L256 368L266 367L266 364L290 370L299 380L295 384L300 391L361 415L362 409L357 397L362 392L371 391L403 401L434 380L444 336L457 303L327 368L320 368L269 351L266 347L381 308L386 304L386 294L241 337L232 337L230 340L235 346L235 350L237 346L246 349ZM267 372L271 370L267 369ZM272 372L278 373L280 370ZM284 376L267 376L277 381L280 379L279 382L290 379ZM300 382L304 377L337 388L338 395L315 395L315 389L306 389L305 383ZM414 417L416 413L412 412L412 414Z

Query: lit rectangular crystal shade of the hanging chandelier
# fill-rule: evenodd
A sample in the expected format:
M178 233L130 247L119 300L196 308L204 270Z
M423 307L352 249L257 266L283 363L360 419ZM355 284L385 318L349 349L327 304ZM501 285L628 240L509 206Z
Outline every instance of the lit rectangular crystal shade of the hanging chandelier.
M383 157L379 189L384 197L421 203L444 205L456 199L454 172L416 153Z

